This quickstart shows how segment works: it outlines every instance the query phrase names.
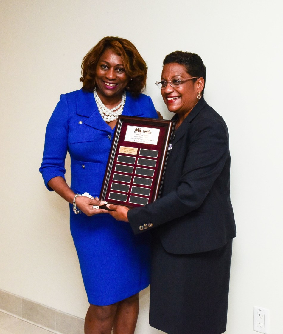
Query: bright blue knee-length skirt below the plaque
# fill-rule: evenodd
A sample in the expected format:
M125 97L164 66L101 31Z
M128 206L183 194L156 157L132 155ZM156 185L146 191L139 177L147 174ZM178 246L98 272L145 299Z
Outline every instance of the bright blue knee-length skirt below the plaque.
M134 235L109 214L75 215L71 206L70 228L90 304L111 305L149 285L149 233Z

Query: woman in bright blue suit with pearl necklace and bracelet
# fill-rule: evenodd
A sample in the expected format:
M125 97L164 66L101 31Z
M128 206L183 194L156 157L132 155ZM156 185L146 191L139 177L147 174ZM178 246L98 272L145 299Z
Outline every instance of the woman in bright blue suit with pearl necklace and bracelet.
M60 97L46 129L40 167L48 190L70 203L70 228L90 303L85 334L133 334L138 293L149 285L148 235L134 235L99 208L98 197L118 115L157 118L136 47L104 37L84 57L81 90ZM71 157L71 185L65 157ZM100 213L100 214L98 214Z

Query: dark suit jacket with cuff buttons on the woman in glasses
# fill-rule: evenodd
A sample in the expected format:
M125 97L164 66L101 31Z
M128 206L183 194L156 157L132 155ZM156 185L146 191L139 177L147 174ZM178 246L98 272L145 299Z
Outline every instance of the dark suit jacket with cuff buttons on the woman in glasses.
M219 248L236 235L227 126L202 98L176 130L172 145L161 197L129 210L129 223L135 234L154 230L173 254Z

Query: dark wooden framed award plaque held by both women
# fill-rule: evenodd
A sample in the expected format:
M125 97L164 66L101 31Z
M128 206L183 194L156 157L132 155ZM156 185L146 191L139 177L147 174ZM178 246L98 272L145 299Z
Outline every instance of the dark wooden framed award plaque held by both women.
M119 116L99 199L129 208L160 196L174 121Z

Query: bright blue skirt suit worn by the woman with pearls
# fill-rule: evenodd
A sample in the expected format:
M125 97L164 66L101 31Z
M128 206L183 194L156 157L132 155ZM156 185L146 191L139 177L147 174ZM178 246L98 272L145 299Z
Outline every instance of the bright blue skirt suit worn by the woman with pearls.
M122 115L157 118L151 98L127 93ZM71 189L99 197L114 129L102 119L92 93L83 90L61 95L46 129L40 167L48 181L65 174L71 157ZM70 204L70 228L82 277L93 305L110 305L149 285L149 235L134 235L130 225L109 214L75 215Z

